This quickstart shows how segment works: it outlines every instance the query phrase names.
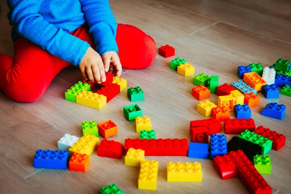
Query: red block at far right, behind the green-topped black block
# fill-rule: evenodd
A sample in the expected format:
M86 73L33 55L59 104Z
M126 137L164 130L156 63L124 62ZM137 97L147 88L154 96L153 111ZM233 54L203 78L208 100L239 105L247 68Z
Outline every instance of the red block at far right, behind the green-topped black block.
M272 131L268 128L264 128L263 126L259 126L255 130L253 130L253 132L272 140L272 149L276 151L278 151L281 147L285 145L286 137L283 134L277 133L276 131Z

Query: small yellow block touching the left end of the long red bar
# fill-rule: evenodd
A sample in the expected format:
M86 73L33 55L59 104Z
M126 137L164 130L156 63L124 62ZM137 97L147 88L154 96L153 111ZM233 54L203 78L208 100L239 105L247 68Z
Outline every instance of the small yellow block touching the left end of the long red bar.
M129 148L124 158L126 166L140 167L141 161L145 159L145 151L142 149Z

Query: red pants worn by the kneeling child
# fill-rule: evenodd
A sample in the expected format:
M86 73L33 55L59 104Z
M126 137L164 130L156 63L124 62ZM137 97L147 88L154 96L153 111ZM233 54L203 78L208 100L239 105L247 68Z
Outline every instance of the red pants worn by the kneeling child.
M71 34L95 48L85 26ZM146 68L155 60L155 41L134 26L118 24L116 42L123 68ZM14 43L14 58L0 53L0 89L13 100L34 102L42 97L56 75L70 65L21 37Z

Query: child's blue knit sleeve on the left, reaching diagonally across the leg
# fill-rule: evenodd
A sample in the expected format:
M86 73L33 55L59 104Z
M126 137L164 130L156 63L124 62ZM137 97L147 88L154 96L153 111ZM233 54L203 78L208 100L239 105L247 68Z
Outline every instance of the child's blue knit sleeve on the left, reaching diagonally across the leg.
M38 14L38 0L7 0L7 4L17 33L73 65L80 64L90 45L45 21Z

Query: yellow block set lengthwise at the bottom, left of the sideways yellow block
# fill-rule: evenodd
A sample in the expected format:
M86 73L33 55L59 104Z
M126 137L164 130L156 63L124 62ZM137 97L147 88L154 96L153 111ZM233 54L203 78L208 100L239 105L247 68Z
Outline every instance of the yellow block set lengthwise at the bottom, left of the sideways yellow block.
M158 170L158 161L143 160L141 162L141 169L138 177L138 189L156 191Z

